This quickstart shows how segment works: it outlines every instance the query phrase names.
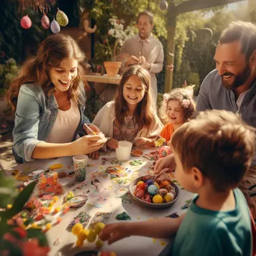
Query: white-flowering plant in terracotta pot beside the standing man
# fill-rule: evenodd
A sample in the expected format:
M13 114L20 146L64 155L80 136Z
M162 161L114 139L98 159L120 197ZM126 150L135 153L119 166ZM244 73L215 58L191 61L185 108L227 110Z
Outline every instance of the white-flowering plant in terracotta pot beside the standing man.
M112 28L109 29L108 37L100 44L106 49L106 54L111 55L112 61L104 61L104 67L108 76L117 76L118 71L121 67L121 62L116 61L117 52L120 46L123 45L124 41L135 34L132 26L127 26L124 30L124 20L112 18L109 19Z

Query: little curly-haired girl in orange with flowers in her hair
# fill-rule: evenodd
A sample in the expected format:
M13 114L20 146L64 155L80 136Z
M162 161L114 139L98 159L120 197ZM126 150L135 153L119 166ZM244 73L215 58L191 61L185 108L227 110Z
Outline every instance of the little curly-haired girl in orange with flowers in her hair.
M165 127L160 133L162 138L170 141L174 131L186 123L195 113L195 101L192 99L193 88L177 88L169 94L163 95L160 117L164 121Z

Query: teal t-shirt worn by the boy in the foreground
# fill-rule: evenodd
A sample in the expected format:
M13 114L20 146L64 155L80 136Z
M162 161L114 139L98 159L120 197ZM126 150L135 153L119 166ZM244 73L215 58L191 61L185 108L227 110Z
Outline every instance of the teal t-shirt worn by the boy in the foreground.
M243 193L234 189L236 208L219 212L192 204L180 225L171 255L252 256L252 227Z

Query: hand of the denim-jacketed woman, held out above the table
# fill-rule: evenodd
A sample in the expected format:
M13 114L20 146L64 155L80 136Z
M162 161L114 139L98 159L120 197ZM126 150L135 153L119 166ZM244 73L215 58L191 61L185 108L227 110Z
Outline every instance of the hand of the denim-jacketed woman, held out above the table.
M97 135L85 135L76 141L73 141L71 144L71 155L79 155L94 152L99 150L100 147L103 147L107 141L103 133Z

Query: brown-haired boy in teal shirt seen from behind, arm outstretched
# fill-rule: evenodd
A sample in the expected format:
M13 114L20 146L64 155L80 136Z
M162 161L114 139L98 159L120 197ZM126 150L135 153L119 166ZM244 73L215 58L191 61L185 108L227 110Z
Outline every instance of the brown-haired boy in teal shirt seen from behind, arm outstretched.
M255 130L231 112L202 112L171 138L175 175L198 195L177 219L106 225L109 244L129 236L166 238L176 234L170 255L252 255L249 208L237 189L255 150Z

